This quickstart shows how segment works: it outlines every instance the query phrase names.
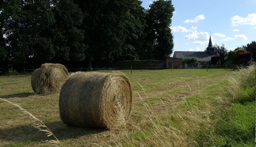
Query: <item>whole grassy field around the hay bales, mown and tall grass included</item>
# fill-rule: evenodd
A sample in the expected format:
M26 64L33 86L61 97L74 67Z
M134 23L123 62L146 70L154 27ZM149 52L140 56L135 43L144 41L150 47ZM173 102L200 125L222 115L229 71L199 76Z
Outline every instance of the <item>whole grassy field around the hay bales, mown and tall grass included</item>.
M242 77L225 69L120 71L132 83L133 110L127 124L116 130L65 125L59 117L59 95L35 95L30 74L0 76L0 98L39 118L64 147L254 146L255 73ZM1 101L0 146L55 146L42 142L54 138L32 126L37 123Z

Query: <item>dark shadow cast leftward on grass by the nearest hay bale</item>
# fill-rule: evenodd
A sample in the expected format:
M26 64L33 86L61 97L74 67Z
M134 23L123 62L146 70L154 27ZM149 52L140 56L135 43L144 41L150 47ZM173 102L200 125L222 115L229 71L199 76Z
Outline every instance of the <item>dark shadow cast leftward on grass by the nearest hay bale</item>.
M62 121L45 124L61 140L75 139L84 135L97 134L106 131L106 129L93 129L67 126ZM42 128L45 129L45 128ZM53 136L47 135L31 126L20 126L16 128L0 129L0 140L7 142L36 142L41 140L56 140Z

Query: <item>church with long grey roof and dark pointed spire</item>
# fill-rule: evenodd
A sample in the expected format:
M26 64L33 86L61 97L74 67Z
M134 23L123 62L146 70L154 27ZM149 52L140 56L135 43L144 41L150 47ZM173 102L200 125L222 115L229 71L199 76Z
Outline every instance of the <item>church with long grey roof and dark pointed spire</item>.
M174 58L197 58L198 64L203 65L208 63L211 56L218 55L218 52L214 50L213 43L211 42L211 36L206 51L174 51ZM209 64L209 63L208 63Z

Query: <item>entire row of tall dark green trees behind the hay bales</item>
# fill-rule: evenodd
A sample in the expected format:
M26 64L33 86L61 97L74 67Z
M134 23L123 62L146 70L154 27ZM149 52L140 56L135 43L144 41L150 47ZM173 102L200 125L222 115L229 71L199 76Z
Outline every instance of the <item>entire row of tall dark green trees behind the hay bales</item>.
M162 59L173 53L171 0L0 0L0 72L42 63Z

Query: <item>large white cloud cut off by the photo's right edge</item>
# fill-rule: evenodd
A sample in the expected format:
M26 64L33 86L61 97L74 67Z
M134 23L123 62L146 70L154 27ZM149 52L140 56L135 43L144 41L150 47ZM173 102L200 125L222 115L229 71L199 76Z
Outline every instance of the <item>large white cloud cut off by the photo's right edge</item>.
M248 14L246 18L235 15L230 18L232 26L238 25L256 25L256 13Z

